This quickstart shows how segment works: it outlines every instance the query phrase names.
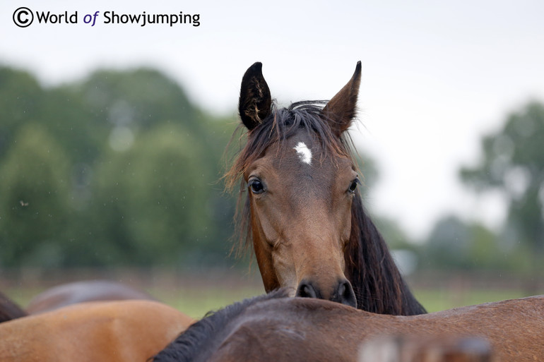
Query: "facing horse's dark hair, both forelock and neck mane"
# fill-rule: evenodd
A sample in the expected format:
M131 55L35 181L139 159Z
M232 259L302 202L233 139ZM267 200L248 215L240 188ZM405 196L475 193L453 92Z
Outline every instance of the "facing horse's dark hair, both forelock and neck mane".
M276 104L272 104L270 116L247 133L246 145L225 175L229 190L240 180L235 216L240 239L233 246L238 256L251 250L253 244L249 198L243 198L246 185L242 175L252 162L264 155L270 145L278 142L281 147L285 144L283 141L304 129L321 143L324 152L321 157L333 155L353 158L351 150L355 147L352 140L347 132L341 138L335 135L331 128L333 120L326 119L321 112L324 104L326 101L304 101L283 109L277 109ZM351 216L350 242L345 251L345 277L355 291L357 308L393 315L426 313L404 282L382 235L365 212L359 193L353 200Z

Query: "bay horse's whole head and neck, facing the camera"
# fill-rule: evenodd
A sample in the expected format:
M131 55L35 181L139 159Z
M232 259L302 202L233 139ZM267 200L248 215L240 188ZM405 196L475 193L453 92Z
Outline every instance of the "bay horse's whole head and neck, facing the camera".
M272 101L261 68L255 63L242 78L247 144L227 177L231 186L240 177L241 195L247 191L242 228L264 288L286 287L292 296L377 313L410 313L403 293L413 296L362 208L345 132L355 117L360 62L329 102L283 109Z

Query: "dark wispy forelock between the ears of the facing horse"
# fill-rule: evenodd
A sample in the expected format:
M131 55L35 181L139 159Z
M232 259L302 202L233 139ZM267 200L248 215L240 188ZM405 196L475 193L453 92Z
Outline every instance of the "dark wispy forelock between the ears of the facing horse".
M252 131L247 132L247 142L238 152L230 170L225 174L226 187L229 191L232 191L235 184L240 181L235 215L239 240L232 247L232 251L235 251L237 256L249 251L253 245L251 222L249 222L251 216L249 198L244 198L244 195L247 196L245 193L247 188L243 175L256 159L264 155L268 147L278 143L280 146L278 153L280 153L285 150L285 141L288 138L303 131L319 142L321 159L331 157L333 162L338 157L353 159L351 150L354 150L355 147L353 147L348 133L344 133L341 138L338 138L331 128L331 124L335 121L328 119L322 112L326 103L327 101L302 101L292 103L290 107L282 109L277 109L276 104L273 104L270 116Z

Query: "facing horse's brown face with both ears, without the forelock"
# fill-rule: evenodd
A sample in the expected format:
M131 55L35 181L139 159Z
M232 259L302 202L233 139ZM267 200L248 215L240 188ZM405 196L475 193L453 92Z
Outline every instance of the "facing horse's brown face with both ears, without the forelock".
M266 291L290 287L296 296L357 304L344 274L357 173L347 155L324 145L342 148L341 134L355 115L360 69L359 62L350 82L313 115L325 120L326 129L312 134L312 127L306 127L285 139L278 135L244 164L254 251ZM259 130L278 122L271 104L256 63L244 74L240 91L240 117L249 143L266 143L268 133Z

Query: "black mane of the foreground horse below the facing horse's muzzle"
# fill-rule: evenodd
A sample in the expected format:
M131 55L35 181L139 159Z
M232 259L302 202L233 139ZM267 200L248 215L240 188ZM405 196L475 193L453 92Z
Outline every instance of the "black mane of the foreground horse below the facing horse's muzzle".
M209 312L199 322L191 325L179 334L174 342L153 357L154 362L185 362L206 361L215 351L215 344L223 341L230 330L227 326L244 310L261 301L288 297L285 289L278 289L271 293L244 299L243 301L226 306L216 312Z

